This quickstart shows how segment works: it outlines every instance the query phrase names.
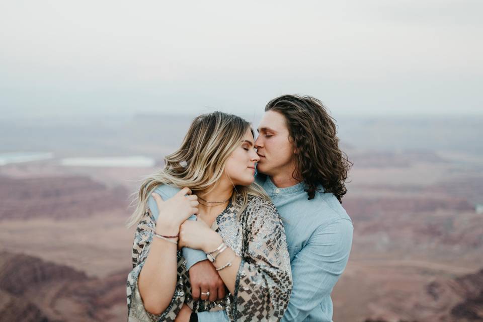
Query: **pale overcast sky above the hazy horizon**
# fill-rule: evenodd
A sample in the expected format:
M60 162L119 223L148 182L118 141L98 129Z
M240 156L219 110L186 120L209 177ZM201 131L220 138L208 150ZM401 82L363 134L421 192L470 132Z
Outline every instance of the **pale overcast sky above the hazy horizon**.
M483 1L2 1L0 117L483 114Z

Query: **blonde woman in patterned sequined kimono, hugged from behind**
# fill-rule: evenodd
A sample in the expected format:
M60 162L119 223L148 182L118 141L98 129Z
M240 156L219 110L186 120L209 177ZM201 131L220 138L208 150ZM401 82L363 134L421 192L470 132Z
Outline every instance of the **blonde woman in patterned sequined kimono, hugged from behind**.
M197 117L165 168L142 183L129 222L137 224L129 320L182 321L223 309L230 320L282 317L292 287L289 255L280 216L253 183L258 160L250 124L214 112ZM196 221L186 220L193 214ZM223 300L210 302L203 290L193 300L177 246L207 253L228 288Z

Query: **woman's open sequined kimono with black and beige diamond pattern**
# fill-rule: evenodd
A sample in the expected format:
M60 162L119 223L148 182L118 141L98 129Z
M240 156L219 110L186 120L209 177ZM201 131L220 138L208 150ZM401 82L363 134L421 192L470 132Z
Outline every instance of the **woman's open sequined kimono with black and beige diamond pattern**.
M239 200L235 202L239 204ZM231 321L278 321L290 299L292 276L287 241L280 215L272 202L250 197L247 208L231 202L216 218L216 230L241 257L234 294L216 302L193 300L186 261L178 251L178 281L168 308L159 315L144 309L138 276L149 254L155 219L148 210L137 226L132 250L133 270L127 280L129 321L174 321L183 303L193 312L225 310Z

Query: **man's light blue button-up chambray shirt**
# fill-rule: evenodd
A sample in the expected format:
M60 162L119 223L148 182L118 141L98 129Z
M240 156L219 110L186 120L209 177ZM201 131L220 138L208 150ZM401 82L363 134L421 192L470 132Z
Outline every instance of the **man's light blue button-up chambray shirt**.
M308 199L303 182L277 188L269 177L256 181L278 209L287 235L293 288L282 321L331 322L331 292L344 271L352 246L351 218L332 193ZM320 191L324 191L319 187ZM187 267L206 259L202 251L183 249ZM198 313L198 320L228 321L224 311Z

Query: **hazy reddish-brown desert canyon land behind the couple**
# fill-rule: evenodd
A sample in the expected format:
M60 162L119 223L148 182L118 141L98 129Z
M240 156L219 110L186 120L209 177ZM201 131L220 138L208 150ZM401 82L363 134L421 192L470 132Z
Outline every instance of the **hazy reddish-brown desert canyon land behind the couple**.
M0 155L54 153L0 166L2 321L126 320L130 193L162 165L188 124L168 116L0 124ZM341 146L354 162L343 198L354 243L334 288L334 321L483 321L477 124L339 123ZM152 157L156 166L62 165L64 157L128 155Z

